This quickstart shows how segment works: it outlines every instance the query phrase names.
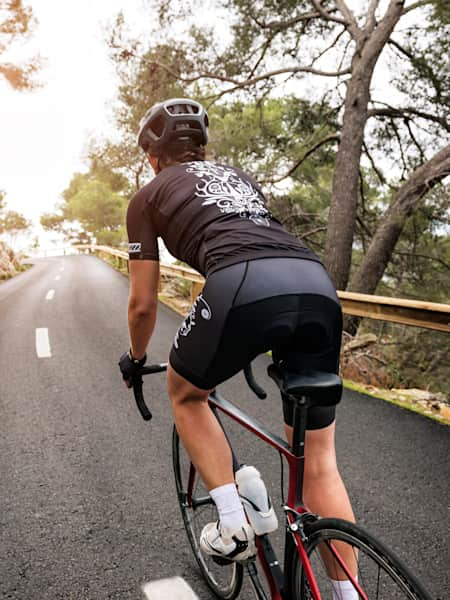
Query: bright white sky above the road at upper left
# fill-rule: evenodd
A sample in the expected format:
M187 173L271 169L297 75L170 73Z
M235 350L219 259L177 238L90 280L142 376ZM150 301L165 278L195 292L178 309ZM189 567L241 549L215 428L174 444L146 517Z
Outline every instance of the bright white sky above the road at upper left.
M150 17L142 0L33 0L39 24L8 59L46 59L44 86L13 91L0 80L0 189L8 208L35 223L51 212L73 173L83 169L89 134L111 128L110 103L117 81L105 44L105 26L124 10L127 22ZM126 8L124 8L126 7ZM148 21L147 21L148 22Z

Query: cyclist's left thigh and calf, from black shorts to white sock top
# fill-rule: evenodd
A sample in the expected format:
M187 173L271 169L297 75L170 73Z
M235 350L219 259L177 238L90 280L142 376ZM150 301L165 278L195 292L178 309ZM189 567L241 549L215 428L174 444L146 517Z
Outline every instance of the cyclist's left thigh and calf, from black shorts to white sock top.
M243 263L208 277L170 353L168 391L178 435L208 489L234 482L231 451L207 399L219 382L209 367L245 271Z

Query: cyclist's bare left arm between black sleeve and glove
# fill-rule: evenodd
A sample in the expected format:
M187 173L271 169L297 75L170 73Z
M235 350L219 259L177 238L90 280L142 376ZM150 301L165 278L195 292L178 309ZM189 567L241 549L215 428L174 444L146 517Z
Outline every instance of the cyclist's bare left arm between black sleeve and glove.
M153 333L158 306L159 261L130 260L128 329L133 358L142 358Z

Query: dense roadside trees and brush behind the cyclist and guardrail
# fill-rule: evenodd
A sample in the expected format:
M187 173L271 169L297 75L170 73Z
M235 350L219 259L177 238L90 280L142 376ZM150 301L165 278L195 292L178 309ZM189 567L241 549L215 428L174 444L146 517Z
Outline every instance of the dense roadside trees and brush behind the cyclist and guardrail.
M121 247L128 199L150 177L139 119L163 98L193 96L208 107L211 157L255 175L338 289L448 303L448 2L213 4L216 19L199 24L198 3L147 1L145 39L118 15L108 37L118 135L89 141L86 172L42 224ZM345 326L347 342L372 340L354 354L355 377L447 391L448 335Z

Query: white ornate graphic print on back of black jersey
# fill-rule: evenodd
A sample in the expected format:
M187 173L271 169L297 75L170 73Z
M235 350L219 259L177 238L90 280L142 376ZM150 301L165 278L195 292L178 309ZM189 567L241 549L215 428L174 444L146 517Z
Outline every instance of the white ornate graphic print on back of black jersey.
M256 225L270 227L270 212L258 191L229 167L207 161L187 163L187 173L201 179L196 185L196 196L204 198L203 206L216 204L222 213L234 213L250 219Z

